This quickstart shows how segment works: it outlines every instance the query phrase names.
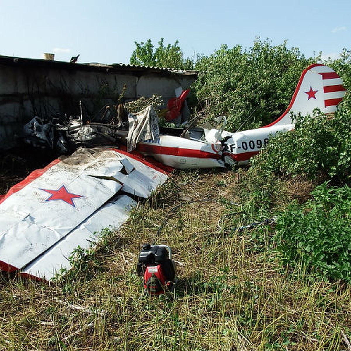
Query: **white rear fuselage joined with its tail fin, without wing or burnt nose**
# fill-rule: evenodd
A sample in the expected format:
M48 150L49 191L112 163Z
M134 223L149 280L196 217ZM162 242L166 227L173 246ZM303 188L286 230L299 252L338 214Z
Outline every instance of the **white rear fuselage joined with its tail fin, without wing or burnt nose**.
M330 67L314 64L305 69L286 111L271 124L236 133L196 128L188 138L160 135L139 141L137 150L175 168L225 167L246 164L277 132L291 131L291 114L312 115L315 108L333 113L345 95L339 75Z

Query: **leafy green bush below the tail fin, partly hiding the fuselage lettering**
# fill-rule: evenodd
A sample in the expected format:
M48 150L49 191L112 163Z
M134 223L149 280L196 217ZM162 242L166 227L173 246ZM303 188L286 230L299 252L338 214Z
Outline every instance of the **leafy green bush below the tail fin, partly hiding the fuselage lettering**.
M351 105L345 98L332 117L316 112L313 118L298 117L293 132L279 133L252 160L261 173L316 179L321 174L349 183L351 167Z

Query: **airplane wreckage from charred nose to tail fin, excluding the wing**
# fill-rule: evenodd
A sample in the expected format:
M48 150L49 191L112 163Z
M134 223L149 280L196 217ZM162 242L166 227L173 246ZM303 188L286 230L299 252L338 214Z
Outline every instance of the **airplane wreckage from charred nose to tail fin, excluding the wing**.
M107 108L100 121L84 123L82 115L75 120L45 123L38 117L26 126L27 141L39 139L51 148L68 152L75 146L124 144L127 151L136 149L160 163L174 168L211 168L245 164L257 154L279 131L294 128L291 113L310 114L315 108L324 113L336 111L345 94L339 75L330 67L314 64L305 69L300 77L290 105L271 124L246 131L227 132L204 127L162 128L152 106L136 114L125 113L121 106L113 115ZM168 103L166 119L181 114L187 90L178 92L178 98ZM168 117L168 118L167 118ZM225 121L225 118L224 118Z

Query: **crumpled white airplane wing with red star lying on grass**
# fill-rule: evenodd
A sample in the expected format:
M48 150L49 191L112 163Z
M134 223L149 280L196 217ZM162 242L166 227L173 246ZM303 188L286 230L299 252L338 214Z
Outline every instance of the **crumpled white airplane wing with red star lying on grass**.
M118 228L167 173L117 149L79 149L34 171L0 200L0 269L51 279L79 245ZM116 195L117 194L117 195Z

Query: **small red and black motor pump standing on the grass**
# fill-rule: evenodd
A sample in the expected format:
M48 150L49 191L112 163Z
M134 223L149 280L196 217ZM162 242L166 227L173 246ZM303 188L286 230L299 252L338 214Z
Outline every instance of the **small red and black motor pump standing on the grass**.
M144 244L139 254L138 275L143 276L144 288L152 295L174 289L176 266L172 250L167 245Z

